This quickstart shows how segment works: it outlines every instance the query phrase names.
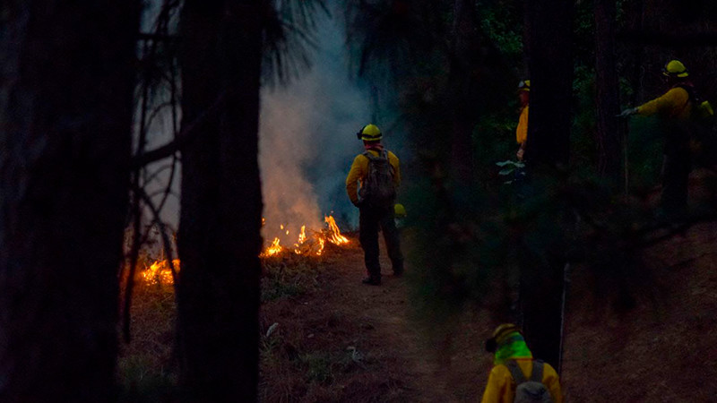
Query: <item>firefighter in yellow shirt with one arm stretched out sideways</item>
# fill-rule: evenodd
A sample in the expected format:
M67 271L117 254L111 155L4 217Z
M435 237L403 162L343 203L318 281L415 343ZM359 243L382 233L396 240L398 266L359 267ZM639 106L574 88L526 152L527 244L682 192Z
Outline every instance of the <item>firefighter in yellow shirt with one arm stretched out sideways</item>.
M662 69L669 90L639 107L625 109L619 115L661 118L665 133L662 160L661 213L676 216L687 209L687 178L690 162L690 124L694 107L694 86L689 81L685 64L670 60Z

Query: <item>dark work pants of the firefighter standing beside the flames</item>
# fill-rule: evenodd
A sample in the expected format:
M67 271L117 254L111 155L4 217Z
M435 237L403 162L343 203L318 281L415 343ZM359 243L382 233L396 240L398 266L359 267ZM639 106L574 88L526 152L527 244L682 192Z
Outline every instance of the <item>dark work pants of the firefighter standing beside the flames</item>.
M403 255L399 241L396 221L393 218L393 207L389 209L375 209L361 207L358 217L358 240L364 250L364 262L368 276L381 279L381 265L378 262L378 229L384 232L386 251L391 259L393 272L403 272Z

